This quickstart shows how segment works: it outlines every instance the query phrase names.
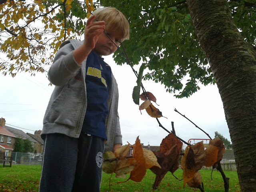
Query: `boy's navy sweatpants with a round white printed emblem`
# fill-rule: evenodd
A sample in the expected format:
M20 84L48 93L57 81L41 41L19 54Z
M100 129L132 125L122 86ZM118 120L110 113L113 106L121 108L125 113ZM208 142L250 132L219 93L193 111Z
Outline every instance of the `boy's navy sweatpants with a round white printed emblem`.
M39 192L99 192L104 139L47 134Z

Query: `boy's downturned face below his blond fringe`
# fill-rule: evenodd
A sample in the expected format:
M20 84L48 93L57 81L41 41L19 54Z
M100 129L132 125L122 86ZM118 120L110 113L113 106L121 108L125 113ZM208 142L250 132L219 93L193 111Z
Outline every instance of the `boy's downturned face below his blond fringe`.
M118 31L108 30L106 28L106 33L102 32L102 34L100 34L98 41L96 42L96 45L93 49L99 56L107 56L117 50L116 45L108 38L107 35L117 46L120 45L122 38L120 33Z

